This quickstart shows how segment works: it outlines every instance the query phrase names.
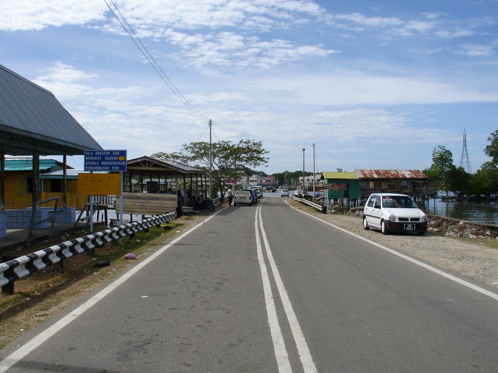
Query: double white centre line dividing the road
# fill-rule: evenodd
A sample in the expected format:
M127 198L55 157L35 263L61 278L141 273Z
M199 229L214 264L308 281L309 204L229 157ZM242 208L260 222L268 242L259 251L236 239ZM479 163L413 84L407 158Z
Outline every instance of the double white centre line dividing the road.
M259 227L258 227L259 224ZM261 246L261 239L259 238L259 229L261 229L261 236L263 238L264 248L266 256L268 257L268 262L273 274L273 279L275 280L278 295L282 300L283 308L289 322L290 329L292 331L292 336L294 337L294 342L297 347L297 352L299 358L301 359L301 364L303 366L304 373L317 373L315 363L311 357L308 345L303 335L303 331L299 326L296 314L290 303L290 299L285 290L285 286L280 278L275 261L273 260L273 255L271 254L270 245L266 238L266 233L263 228L263 221L261 218L261 205L256 208L256 216L254 219L254 227L256 230L256 247L257 247L257 257L259 260L259 267L261 269L261 278L263 280L263 292L264 299L266 302L266 313L268 315L268 324L270 326L271 338L273 339L273 349L275 350L275 358L277 360L278 372L279 373L290 373L292 368L289 362L289 356L287 350L285 349L285 342L282 336L282 331L280 329L280 324L278 322L275 301L273 294L271 292L270 279L268 277L268 272L266 270L266 263L264 262L263 249Z

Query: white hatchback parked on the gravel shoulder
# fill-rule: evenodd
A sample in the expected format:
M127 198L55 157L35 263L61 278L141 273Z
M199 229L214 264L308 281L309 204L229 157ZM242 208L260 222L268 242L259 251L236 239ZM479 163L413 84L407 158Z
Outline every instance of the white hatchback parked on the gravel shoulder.
M408 195L374 193L363 208L363 228L380 229L382 234L397 231L423 235L427 231L427 215Z

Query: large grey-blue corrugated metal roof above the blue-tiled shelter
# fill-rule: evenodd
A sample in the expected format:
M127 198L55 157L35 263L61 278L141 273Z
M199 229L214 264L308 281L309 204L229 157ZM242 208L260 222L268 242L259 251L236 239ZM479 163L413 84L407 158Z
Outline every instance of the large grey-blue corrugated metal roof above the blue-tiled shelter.
M0 144L6 154L76 155L102 149L53 93L0 65Z

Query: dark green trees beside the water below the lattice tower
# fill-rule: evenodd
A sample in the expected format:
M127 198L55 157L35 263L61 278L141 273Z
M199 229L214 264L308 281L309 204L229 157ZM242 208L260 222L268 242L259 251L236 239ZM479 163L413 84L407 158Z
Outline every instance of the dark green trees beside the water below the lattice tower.
M488 137L484 153L491 158L475 174L453 164L453 154L443 145L432 151L432 165L422 172L437 190L461 199L496 199L498 196L498 130Z

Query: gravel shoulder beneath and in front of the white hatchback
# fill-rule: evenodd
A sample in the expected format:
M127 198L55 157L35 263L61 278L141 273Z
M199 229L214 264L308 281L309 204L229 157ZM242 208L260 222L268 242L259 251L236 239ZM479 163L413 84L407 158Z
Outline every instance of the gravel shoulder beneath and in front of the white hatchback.
M322 219L403 254L498 289L498 241L489 237L459 238L428 231L425 235L364 230L354 215L317 215Z

